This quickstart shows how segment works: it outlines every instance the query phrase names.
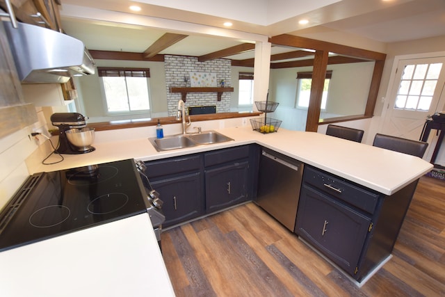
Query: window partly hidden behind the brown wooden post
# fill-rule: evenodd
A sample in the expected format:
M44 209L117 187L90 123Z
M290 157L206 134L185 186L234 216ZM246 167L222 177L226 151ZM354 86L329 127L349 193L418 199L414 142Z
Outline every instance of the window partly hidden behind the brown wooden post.
M332 77L332 70L326 72L325 86L323 88L323 97L321 98L321 109L326 109L327 90ZM297 73L297 94L296 108L307 109L309 107L309 97L311 95L312 72Z

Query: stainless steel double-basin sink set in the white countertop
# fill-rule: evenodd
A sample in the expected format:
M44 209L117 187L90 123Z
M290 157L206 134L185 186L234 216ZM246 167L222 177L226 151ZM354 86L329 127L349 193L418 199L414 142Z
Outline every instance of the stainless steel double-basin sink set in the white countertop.
M164 136L164 138L149 138L150 143L158 152L166 150L177 150L186 147L195 147L198 145L211 145L213 143L225 143L233 141L217 131L202 131L195 134L178 134L172 136Z

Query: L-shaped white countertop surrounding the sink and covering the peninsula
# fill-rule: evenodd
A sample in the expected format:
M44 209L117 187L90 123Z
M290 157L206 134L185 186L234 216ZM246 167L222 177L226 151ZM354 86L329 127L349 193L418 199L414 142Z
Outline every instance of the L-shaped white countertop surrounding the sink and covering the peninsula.
M114 131L116 137L120 133L125 133L124 130ZM29 168L29 170L31 173L54 171L131 158L149 161L258 143L385 195L391 195L432 168L432 164L416 156L346 141L316 132L280 129L276 133L261 134L248 126L216 129L216 131L233 138L234 141L168 152L156 152L148 138L95 143L93 144L96 148L94 152L76 155L64 154L65 160L60 163L50 166L40 164ZM51 156L48 162L57 161L58 158L59 156Z

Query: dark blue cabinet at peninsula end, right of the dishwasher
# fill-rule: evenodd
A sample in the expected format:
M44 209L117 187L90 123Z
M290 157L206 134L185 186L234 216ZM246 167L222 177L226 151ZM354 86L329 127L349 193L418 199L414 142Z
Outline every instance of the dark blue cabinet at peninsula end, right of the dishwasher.
M305 166L295 232L362 282L391 255L417 182L387 196Z

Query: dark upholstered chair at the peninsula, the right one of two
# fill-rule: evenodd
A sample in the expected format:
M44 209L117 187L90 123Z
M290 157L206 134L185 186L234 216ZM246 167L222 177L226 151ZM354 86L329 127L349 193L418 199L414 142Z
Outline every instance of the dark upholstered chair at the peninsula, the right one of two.
M384 134L375 134L373 146L382 147L387 150L394 150L396 152L403 152L404 154L411 154L412 156L423 157L428 143L423 141L412 141L411 139L389 136Z

